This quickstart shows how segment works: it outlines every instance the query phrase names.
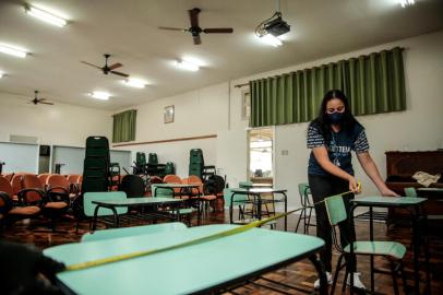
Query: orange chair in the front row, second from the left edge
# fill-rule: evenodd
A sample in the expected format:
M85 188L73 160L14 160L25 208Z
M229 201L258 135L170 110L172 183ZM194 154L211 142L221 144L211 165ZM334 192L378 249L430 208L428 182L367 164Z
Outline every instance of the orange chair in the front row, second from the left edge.
M41 213L51 220L51 228L56 229L56 220L69 210L69 196L64 192L45 191L44 185L35 175L22 177L23 189L19 192L19 200L25 204L39 205Z

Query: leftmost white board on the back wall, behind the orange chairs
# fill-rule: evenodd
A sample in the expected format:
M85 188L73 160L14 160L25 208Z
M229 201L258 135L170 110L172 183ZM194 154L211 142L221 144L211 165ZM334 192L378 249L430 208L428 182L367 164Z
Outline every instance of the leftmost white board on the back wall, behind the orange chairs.
M38 173L38 145L0 142L0 162L4 162L3 173Z

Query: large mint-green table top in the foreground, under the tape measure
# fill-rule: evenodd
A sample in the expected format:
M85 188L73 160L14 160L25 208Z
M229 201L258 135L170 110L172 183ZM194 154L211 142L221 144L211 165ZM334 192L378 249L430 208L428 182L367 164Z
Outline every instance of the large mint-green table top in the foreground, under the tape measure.
M216 224L184 231L108 240L74 243L47 248L46 256L67 264L109 256L163 248L236 227ZM219 239L57 274L79 294L190 294L247 279L297 261L321 249L318 237L253 228Z

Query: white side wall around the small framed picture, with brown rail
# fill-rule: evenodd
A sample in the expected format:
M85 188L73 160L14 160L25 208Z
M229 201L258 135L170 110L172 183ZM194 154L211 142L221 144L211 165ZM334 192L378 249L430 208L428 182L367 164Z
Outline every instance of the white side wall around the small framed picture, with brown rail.
M136 106L136 142L212 135L226 129L228 122L228 101L226 99L229 92L228 85L228 83L212 85ZM170 105L175 107L173 122L164 123L165 107ZM191 149L203 150L205 165L216 165L217 158L216 138L117 149L133 151L133 160L135 160L135 152L145 152L146 157L148 153L156 153L159 163L173 162L176 174L180 177L188 176L189 151Z

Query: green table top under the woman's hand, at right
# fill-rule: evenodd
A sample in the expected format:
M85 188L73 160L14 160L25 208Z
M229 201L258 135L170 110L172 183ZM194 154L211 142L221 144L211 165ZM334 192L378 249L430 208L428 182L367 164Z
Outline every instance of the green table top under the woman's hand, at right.
M426 198L417 197L381 197L367 196L349 200L357 205L374 205L374 206L410 206L418 205L427 201Z

